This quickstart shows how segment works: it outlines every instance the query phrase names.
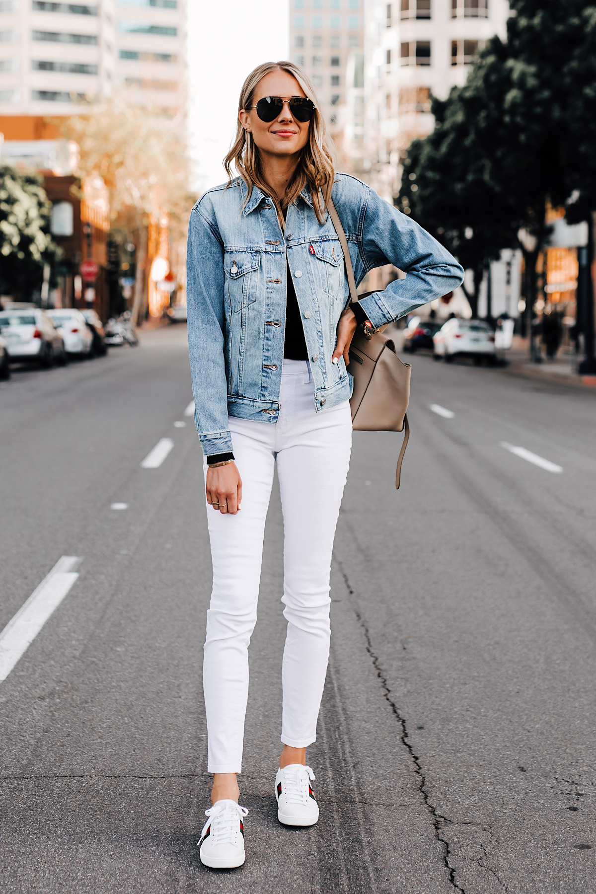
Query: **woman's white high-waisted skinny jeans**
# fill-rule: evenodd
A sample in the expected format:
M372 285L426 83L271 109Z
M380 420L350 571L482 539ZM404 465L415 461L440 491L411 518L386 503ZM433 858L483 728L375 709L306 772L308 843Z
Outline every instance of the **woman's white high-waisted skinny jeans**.
M229 417L242 478L238 515L207 506L214 568L207 611L203 689L212 773L240 772L248 699L248 643L255 628L264 521L277 460L283 510L281 741L315 741L329 660L329 578L333 537L348 475L348 401L315 412L305 360L284 360L275 425ZM206 461L205 461L206 472Z

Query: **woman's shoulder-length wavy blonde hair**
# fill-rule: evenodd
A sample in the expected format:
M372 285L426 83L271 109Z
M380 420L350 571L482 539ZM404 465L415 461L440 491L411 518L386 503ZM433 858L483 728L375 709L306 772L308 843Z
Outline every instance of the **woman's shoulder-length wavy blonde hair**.
M307 185L313 199L315 214L319 223L323 223L325 208L331 198L333 179L335 177L333 149L332 143L325 133L325 122L323 115L319 111L315 89L306 77L306 74L302 69L298 68L298 65L291 62L265 62L257 65L256 69L250 72L247 80L242 84L238 110L241 112L243 109L249 109L253 105L253 97L258 82L264 78L265 74L278 71L288 72L292 78L296 78L306 97L312 99L316 106L315 114L311 118L308 127L308 141L300 153L296 173L294 173L292 180L288 184L281 203L277 196L273 194L272 188L264 180L261 156L256 148L255 140L252 139L248 131L245 131L240 122L238 122L236 127L236 139L230 152L223 159L223 166L231 181L231 165L234 164L240 177L247 184L248 195L242 207L246 206L253 187L258 187L265 196L268 196L274 202L280 218L281 228L283 229L283 210L298 198Z

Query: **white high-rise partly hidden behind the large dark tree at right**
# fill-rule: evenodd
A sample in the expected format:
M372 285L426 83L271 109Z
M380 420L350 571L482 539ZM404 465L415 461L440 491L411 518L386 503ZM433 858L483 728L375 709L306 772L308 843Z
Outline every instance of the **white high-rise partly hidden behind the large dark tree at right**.
M432 131L431 95L463 86L508 16L508 0L366 0L366 179L385 198L399 189L400 151Z

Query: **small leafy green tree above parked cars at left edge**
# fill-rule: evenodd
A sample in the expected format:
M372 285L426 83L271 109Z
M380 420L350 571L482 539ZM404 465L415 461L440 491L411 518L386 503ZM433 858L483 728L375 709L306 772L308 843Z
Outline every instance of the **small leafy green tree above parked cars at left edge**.
M42 182L0 166L0 291L24 301L40 289L44 265L62 253L50 236L52 206Z

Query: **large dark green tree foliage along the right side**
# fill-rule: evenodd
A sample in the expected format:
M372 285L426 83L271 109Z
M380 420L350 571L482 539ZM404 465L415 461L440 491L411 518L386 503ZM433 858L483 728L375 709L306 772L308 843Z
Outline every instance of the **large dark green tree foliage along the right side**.
M547 201L573 190L596 201L596 6L511 7L507 41L492 38L466 85L434 100L435 130L407 150L398 199L474 270L475 299L483 264L516 245L521 227L536 237L525 250L533 270Z

